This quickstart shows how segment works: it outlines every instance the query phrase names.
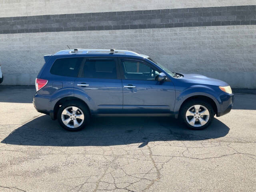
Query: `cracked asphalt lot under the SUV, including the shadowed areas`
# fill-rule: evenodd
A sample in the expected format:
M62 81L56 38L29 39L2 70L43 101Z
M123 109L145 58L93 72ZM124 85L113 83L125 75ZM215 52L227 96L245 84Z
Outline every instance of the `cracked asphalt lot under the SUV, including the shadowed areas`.
M206 130L169 117L94 117L67 132L34 89L0 86L0 191L256 191L256 94Z

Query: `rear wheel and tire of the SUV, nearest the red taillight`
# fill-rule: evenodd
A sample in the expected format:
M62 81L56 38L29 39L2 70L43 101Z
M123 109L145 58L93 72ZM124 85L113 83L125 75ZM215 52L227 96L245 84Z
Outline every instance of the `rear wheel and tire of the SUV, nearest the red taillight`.
M76 110L76 112L74 112ZM59 124L68 131L82 130L90 122L88 107L79 101L64 103L57 114Z

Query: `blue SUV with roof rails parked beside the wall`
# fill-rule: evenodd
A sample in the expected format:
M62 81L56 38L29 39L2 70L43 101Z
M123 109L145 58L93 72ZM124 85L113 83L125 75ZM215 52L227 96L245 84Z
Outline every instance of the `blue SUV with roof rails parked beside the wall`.
M84 128L95 114L162 114L202 130L230 112L234 94L223 81L174 73L126 50L62 50L44 56L34 107L66 130Z

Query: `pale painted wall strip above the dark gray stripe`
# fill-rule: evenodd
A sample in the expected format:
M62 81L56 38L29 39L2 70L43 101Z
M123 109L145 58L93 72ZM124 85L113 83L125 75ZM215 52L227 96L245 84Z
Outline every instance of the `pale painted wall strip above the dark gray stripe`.
M255 4L256 0L0 0L0 17Z

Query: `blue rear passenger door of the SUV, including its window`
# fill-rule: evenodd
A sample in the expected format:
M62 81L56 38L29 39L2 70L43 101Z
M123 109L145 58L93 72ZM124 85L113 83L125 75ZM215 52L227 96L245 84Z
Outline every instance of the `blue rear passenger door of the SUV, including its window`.
M74 96L92 113L122 112L123 88L116 58L85 58L74 82Z

